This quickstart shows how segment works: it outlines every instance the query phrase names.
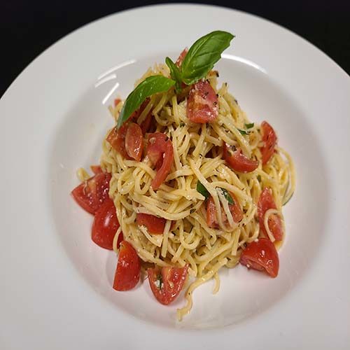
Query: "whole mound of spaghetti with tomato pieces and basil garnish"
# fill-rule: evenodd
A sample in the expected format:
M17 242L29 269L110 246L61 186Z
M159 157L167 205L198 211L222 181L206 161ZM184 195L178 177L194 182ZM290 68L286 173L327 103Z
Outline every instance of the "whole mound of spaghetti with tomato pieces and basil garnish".
M213 66L232 38L207 34L116 99L100 165L92 177L80 169L72 192L94 214L92 240L118 253L113 288L134 288L144 272L162 304L184 290L179 320L195 288L214 279L218 292L223 267L277 276L281 210L295 189L273 127L252 123L218 83Z

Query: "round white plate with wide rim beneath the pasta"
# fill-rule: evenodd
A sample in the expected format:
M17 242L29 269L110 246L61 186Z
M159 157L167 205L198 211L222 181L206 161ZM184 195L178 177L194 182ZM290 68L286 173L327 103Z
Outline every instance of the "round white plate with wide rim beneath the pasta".
M181 297L163 307L147 283L113 291L116 257L92 243L92 218L69 191L76 168L99 158L113 96L214 29L236 35L217 65L221 81L251 120L274 125L295 160L297 191L284 211L279 276L223 271L218 295L211 282L197 289L193 312L176 323ZM350 78L307 41L226 8L128 10L43 52L3 95L0 116L1 349L349 344Z

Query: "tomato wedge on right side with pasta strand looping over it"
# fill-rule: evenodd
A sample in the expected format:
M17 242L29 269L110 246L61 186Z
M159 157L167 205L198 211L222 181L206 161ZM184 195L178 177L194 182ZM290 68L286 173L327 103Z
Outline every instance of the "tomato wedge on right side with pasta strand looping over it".
M259 225L260 230L263 232L265 237L267 237L267 232L265 230L264 225L264 216L268 209L276 209L276 204L274 202L274 198L272 197L271 190L265 187L260 194L258 201L258 217L259 217ZM274 239L276 241L281 241L283 239L283 228L281 223L281 218L277 214L272 214L269 216L267 221L267 225L269 225L269 230L274 235Z

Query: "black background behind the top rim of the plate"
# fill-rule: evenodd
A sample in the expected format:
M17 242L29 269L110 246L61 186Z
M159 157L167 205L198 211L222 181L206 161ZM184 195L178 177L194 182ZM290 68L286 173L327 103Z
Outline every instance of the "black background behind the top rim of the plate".
M190 2L237 8L272 20L314 43L350 74L349 0ZM105 15L154 3L164 2L0 0L0 96L27 64L62 36Z

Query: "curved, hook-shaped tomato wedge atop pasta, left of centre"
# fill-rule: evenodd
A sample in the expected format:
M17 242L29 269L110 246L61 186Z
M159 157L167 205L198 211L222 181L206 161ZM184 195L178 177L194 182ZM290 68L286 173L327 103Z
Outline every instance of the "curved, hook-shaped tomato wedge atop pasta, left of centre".
M160 132L150 134L148 137L147 155L157 169L157 174L151 182L153 190L158 190L167 176L174 161L174 148L172 141Z

